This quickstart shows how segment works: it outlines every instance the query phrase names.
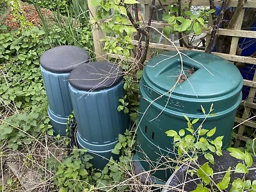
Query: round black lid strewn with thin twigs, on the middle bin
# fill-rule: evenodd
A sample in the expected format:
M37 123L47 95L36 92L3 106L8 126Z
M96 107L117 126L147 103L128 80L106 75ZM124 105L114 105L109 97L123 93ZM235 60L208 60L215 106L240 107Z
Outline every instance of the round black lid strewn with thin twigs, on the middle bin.
M74 68L70 72L69 83L77 90L104 90L122 81L123 69L120 65L107 61L90 62Z

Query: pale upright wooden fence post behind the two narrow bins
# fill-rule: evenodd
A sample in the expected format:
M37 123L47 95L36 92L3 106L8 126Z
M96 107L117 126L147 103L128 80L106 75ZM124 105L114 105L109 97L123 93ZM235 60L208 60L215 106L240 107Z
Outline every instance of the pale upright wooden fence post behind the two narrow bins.
M98 23L93 21L94 15L96 15L96 6L91 6L91 2L95 0L88 0L88 8L90 12L90 23L92 24L92 36L93 36L93 44L96 54L96 60L108 60L108 56L106 52L103 51L103 44L100 42L100 38L104 38L106 34L100 29Z

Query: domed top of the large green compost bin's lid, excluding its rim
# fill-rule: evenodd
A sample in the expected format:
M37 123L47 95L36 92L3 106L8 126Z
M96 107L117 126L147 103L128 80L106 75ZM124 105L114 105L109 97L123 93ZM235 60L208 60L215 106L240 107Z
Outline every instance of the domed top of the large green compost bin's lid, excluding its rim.
M179 79L181 63L186 76L182 74ZM199 51L182 51L180 54L172 51L148 61L143 70L143 82L161 94L169 92L175 85L172 95L207 99L240 91L243 77L233 63L218 56Z

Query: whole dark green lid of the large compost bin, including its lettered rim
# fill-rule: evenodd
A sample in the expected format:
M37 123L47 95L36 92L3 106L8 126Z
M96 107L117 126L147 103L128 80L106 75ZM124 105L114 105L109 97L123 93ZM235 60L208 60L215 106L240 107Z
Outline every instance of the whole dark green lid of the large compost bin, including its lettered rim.
M179 79L182 65L184 73ZM143 97L154 100L154 106L189 114L202 114L200 105L209 109L214 104L214 113L231 110L242 87L243 77L233 63L199 51L155 56L145 65L140 81Z

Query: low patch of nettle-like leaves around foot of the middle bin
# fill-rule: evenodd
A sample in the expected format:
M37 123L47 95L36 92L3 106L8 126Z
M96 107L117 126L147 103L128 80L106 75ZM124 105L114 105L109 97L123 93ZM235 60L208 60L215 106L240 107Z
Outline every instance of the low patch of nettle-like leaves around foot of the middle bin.
M95 170L90 160L93 159L86 150L74 148L70 156L65 157L63 162L57 164L54 174L54 184L60 192L67 191L125 191L127 185L118 184L129 177L131 168L131 157L134 153L134 135L126 130L124 135L118 136L118 143L113 149L113 154L120 157L115 161L112 157L103 170ZM52 163L49 163L52 166Z

